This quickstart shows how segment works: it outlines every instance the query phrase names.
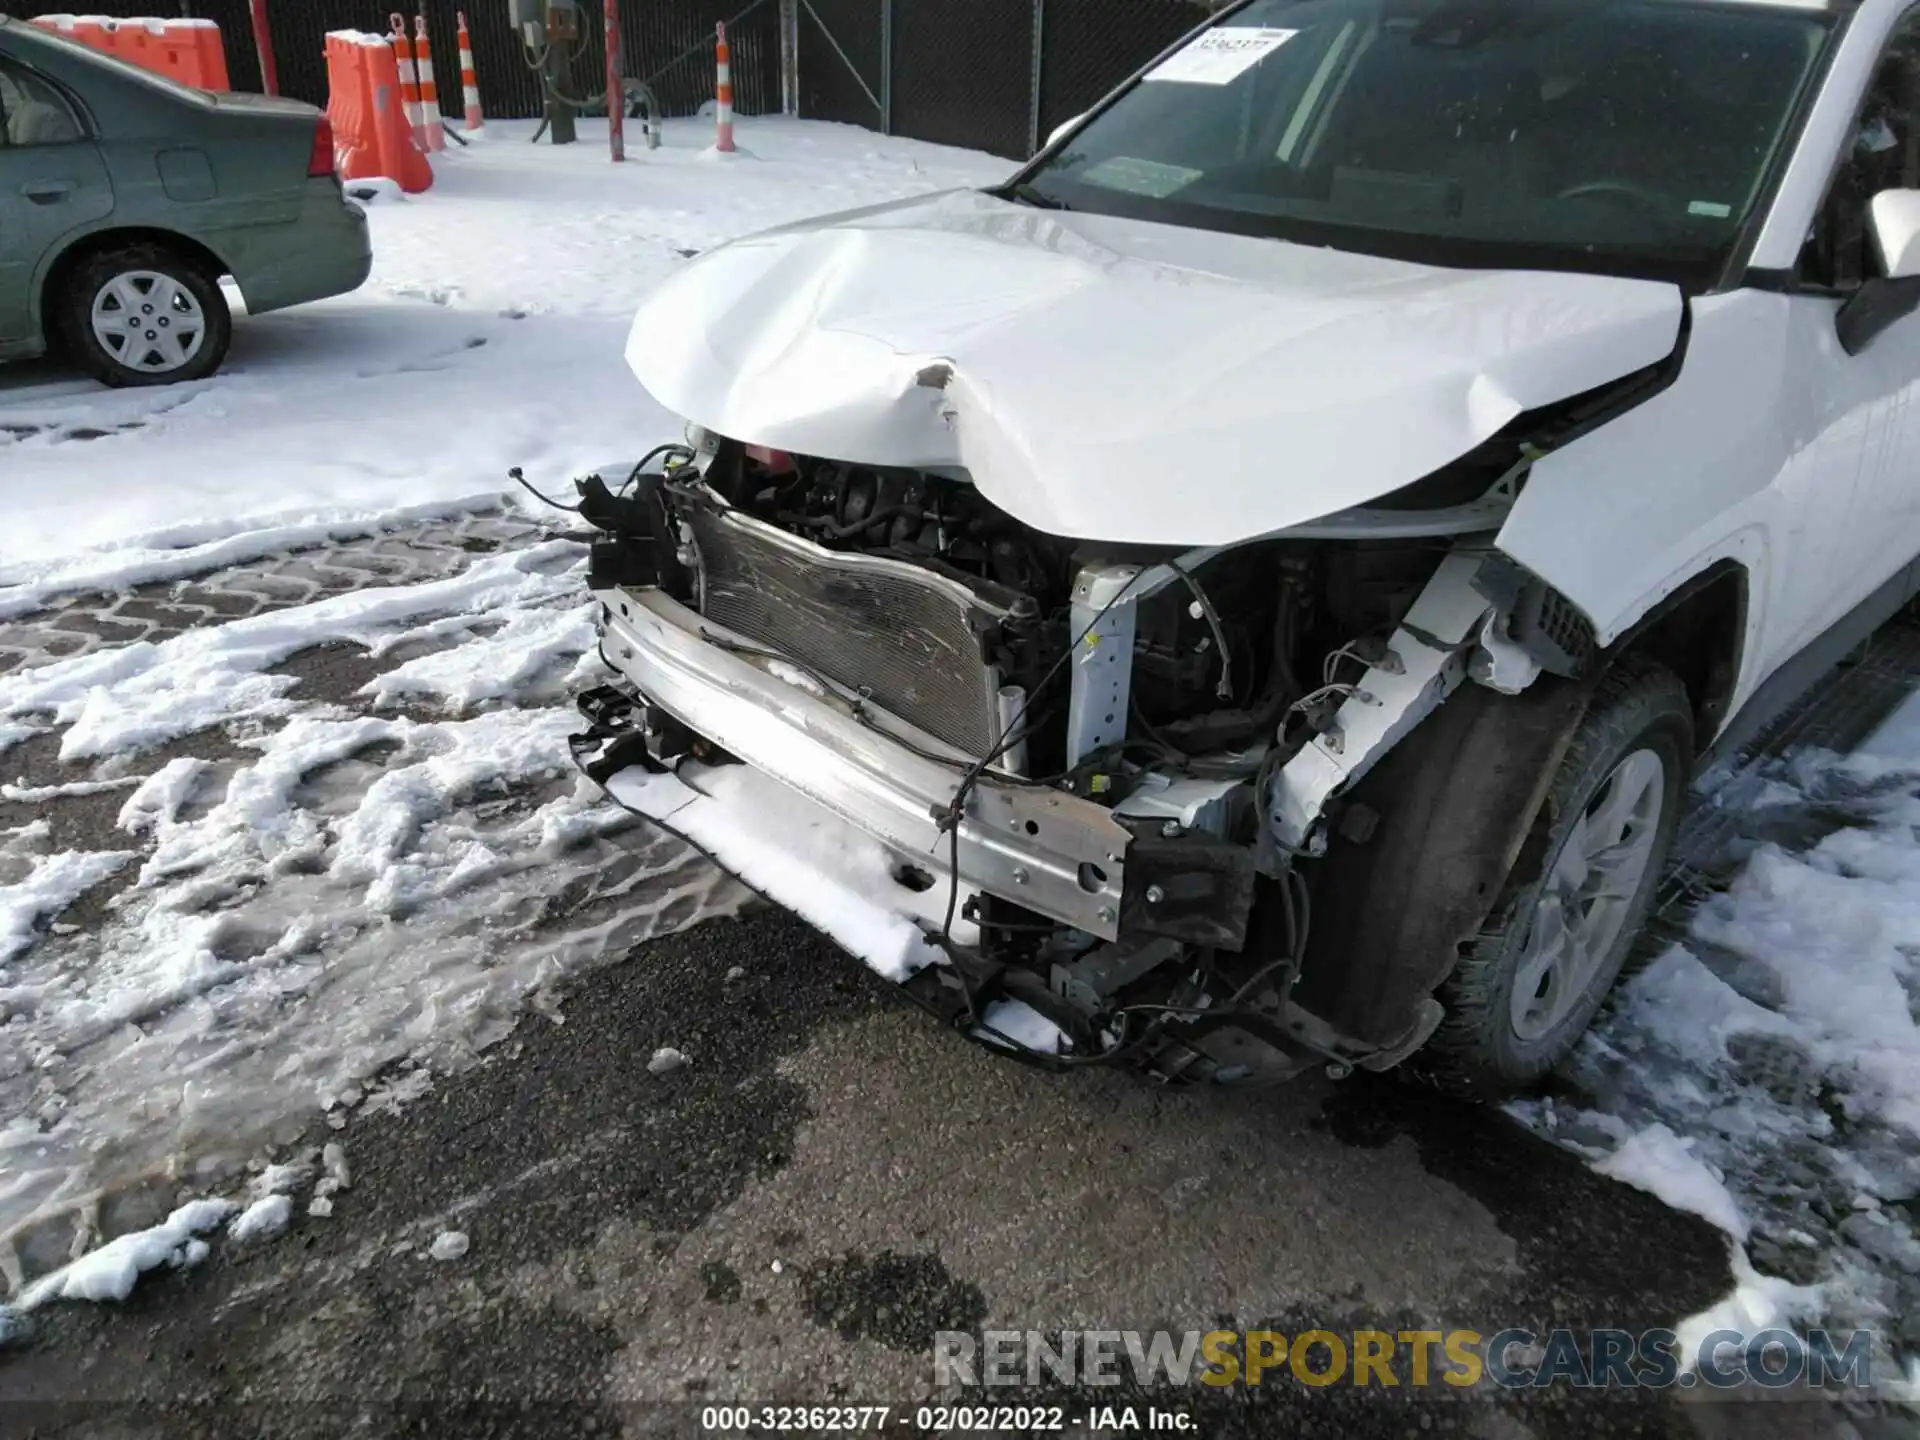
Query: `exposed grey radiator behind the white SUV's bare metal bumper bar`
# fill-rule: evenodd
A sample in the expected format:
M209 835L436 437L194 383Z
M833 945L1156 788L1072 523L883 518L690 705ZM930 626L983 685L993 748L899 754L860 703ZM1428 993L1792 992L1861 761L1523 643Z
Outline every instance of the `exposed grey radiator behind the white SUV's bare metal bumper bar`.
M687 507L701 611L818 670L964 755L998 743L998 680L977 620L1006 618L956 580L841 555L751 516Z

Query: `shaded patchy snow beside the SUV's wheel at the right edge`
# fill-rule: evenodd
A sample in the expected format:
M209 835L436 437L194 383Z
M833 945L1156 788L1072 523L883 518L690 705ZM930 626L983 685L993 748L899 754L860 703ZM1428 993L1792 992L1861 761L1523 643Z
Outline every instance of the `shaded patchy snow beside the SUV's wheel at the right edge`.
M1920 699L1851 756L1711 787L1732 883L1582 1041L1580 1102L1509 1110L1728 1235L1734 1290L1678 1327L1688 1356L1772 1323L1891 1342L1920 1313Z

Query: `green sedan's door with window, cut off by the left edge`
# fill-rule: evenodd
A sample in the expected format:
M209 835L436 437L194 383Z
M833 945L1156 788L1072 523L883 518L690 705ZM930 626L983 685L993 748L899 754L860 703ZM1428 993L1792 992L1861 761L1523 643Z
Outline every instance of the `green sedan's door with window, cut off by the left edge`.
M111 213L106 161L75 106L48 79L0 56L0 346L36 338L33 286L42 259Z

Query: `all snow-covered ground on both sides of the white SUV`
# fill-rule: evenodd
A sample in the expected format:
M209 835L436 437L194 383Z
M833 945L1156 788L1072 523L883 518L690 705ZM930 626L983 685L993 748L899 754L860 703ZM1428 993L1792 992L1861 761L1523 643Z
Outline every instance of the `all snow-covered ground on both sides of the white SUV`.
M232 1215L271 1231L273 1185L246 1210L171 1206L244 1194L228 1171L282 1125L403 1102L551 1008L568 970L739 900L572 780L564 693L595 660L553 513L428 578L244 614L209 591L204 622L152 636L125 607L6 670L65 597L411 534L497 507L507 467L563 492L637 455L672 422L620 363L628 315L684 255L1004 171L783 121L743 121L735 159L672 125L620 169L591 127L561 152L490 129L426 196L374 204L361 294L242 321L215 380L0 371L0 780L38 776L0 789L15 1283L132 1229L102 1196L146 1192L156 1229L46 1294L123 1294ZM79 804L98 833L60 822ZM1868 753L1801 751L1709 804L1740 816L1724 893L1584 1046L1578 1100L1515 1114L1720 1223L1749 1327L1859 1321L1912 1354L1920 708Z

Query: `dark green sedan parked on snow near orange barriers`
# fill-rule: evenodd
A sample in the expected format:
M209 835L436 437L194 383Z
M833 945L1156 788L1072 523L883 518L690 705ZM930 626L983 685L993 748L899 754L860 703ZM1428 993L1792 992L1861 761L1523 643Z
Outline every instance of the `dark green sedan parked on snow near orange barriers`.
M0 15L0 361L198 380L250 315L357 288L367 215L326 117L209 94Z

